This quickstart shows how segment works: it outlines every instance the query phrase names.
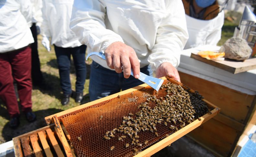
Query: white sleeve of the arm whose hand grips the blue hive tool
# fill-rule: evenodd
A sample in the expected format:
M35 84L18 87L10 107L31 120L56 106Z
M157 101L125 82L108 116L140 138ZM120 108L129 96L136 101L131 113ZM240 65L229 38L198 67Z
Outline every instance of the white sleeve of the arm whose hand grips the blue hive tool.
M111 43L123 42L120 35L106 29L105 16L106 6L100 0L74 1L70 28L92 51L105 51Z

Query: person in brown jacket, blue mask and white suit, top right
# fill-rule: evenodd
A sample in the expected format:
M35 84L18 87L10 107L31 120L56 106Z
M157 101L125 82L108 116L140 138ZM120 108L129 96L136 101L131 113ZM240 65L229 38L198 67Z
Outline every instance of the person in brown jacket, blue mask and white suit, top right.
M224 11L216 0L182 0L189 39L184 49L201 45L216 46L221 38ZM226 1L227 2L227 1ZM226 3L221 2L222 5Z

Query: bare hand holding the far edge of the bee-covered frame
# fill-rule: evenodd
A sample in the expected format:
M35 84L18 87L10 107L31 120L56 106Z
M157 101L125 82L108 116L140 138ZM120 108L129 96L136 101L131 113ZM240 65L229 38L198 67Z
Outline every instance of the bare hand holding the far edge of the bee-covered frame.
M169 62L164 62L157 68L156 77L159 78L163 76L169 76L180 82L178 70Z

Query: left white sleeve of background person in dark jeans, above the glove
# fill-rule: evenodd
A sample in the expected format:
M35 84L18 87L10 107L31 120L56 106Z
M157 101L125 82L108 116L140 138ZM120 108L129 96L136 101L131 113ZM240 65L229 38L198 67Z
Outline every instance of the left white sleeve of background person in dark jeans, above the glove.
M42 4L42 23L41 23L41 27L40 27L40 34L43 36L43 37L47 37L48 39L51 38L51 30L50 30L50 27L49 27L49 22L48 22L48 17L50 15L47 14L47 2L46 1L43 1L43 4Z

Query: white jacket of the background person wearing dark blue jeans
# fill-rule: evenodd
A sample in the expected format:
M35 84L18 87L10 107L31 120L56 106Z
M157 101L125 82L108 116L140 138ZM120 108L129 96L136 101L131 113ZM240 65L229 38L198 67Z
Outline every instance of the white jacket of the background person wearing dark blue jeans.
M43 0L41 25L42 44L50 51L51 44L58 47L78 47L82 44L69 28L73 0Z

